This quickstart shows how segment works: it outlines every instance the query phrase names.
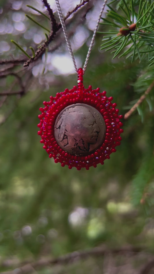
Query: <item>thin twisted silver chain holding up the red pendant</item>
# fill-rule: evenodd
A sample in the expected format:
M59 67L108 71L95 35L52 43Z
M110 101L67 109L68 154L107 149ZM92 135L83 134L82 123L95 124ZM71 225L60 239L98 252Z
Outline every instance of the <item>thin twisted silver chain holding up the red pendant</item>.
M101 8L101 12L100 12L99 17L97 19L97 24L96 24L96 27L94 29L92 40L91 40L91 43L90 43L90 46L89 46L89 49L88 49L88 53L87 53L87 56L86 56L86 61L84 63L84 68L83 68L84 72L86 71L86 68L87 68L89 56L90 56L90 53L91 53L91 50L92 50L92 46L94 44L94 39L95 39L95 36L96 36L96 33L97 33L97 29L98 29L98 26L99 26L99 21L101 19L101 15L103 13L103 10L105 8L106 3L107 3L107 0L104 1L103 6ZM72 51L72 48L71 48L71 45L70 45L70 41L69 41L69 38L68 38L68 35L67 35L67 32L66 32L66 26L65 26L64 19L63 19L63 16L62 16L62 11L61 11L61 8L60 8L59 0L55 0L55 4L56 4L56 7L57 7L57 12L58 12L58 15L59 15L59 18L60 18L60 22L61 22L62 29L63 29L63 32L64 32L64 36L65 36L65 39L66 39L68 50L70 52L70 56L71 56L73 64L74 64L75 72L77 73L77 66L76 66L76 63L75 63L75 58L74 58L74 54L73 54L73 51Z

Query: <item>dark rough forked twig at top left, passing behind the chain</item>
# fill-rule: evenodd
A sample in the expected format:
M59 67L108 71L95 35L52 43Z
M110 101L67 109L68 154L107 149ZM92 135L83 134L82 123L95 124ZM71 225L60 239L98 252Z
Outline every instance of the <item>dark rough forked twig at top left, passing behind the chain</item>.
M42 0L43 3L47 3L46 0ZM66 21L66 19L71 15L73 14L74 12L76 12L79 8L81 8L81 6L85 5L85 3L88 3L90 0L84 0L82 1L79 5L77 5L73 10L71 10L70 12L67 13L66 17L64 18L64 21ZM41 47L35 52L35 57L32 57L31 59L27 60L25 63L24 63L24 67L26 66L29 66L29 64L33 61L36 61L39 57L42 56L42 54L44 53L45 51L45 48L49 45L49 43L53 40L55 34L58 32L59 29L61 29L61 24L57 24L57 22L55 21L55 18L54 18L54 15L53 15L53 11L52 9L50 8L50 5L47 3L47 6L48 8L48 12L49 12L49 15L51 16L51 24L52 24L52 30L51 30L51 33L48 37L48 40L45 41ZM51 12L52 11L52 12Z

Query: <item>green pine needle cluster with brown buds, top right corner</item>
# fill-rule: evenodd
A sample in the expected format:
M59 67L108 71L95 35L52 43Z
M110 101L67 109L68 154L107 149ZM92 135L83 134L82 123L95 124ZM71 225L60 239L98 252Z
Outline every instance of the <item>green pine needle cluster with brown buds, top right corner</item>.
M115 49L113 52L116 53L113 59L119 53L119 58L121 56L132 56L132 62L137 58L141 60L147 55L147 59L150 62L149 65L152 65L154 63L153 55L151 56L154 52L154 2L150 3L150 1L146 0L140 1L138 10L134 8L135 3L133 0L129 1L130 5L128 5L125 0L121 0L120 2L123 2L123 5L119 4L118 7L122 10L124 16L116 12L111 5L107 5L110 9L107 10L107 19L101 18L103 23L100 23L100 25L111 27L111 29L106 32L99 31L99 33L103 34L101 49L106 49L106 51ZM111 21L108 20L108 18ZM137 18L136 23L134 23L134 18ZM114 28L116 28L115 31ZM117 28L119 28L119 31ZM127 42L123 43L126 37ZM110 47L111 42L112 47ZM149 54L149 50L151 54Z

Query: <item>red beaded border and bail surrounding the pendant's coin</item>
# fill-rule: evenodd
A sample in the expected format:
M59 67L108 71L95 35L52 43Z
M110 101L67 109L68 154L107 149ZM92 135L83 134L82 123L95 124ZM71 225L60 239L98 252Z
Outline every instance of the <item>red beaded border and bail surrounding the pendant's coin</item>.
M122 115L118 115L119 110L115 109L116 103L110 103L112 97L106 97L106 91L99 92L99 88L92 90L92 86L87 89L83 86L83 70L78 69L78 85L73 89L65 89L64 92L57 93L55 97L50 96L50 101L44 101L44 108L40 108L42 114L38 115L40 123L40 131L38 135L41 136L40 142L44 143L43 148L49 154L49 158L54 158L55 163L60 162L61 166L68 165L69 169L73 166L80 170L85 167L87 170L90 166L96 167L97 164L104 164L105 159L110 159L110 154L116 152L115 147L120 145L120 134L123 125L120 119ZM57 115L68 105L74 103L85 103L96 108L106 124L106 134L103 144L94 153L86 156L71 155L64 151L56 142L54 136L54 123Z

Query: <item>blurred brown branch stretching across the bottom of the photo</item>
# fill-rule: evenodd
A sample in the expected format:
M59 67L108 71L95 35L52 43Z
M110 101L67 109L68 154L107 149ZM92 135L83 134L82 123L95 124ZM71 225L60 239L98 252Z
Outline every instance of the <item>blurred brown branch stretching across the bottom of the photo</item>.
M31 269L39 269L41 267L55 265L55 264L67 264L77 260L86 259L89 256L104 256L108 254L126 253L126 252L140 252L141 247L122 247L119 249L107 249L106 247L94 247L86 251L74 251L64 256L57 257L55 259L40 259L36 262L27 263L23 266L16 266L18 268L18 274L30 273ZM5 271L0 274L13 274L14 271ZM143 273L142 273L143 274Z

